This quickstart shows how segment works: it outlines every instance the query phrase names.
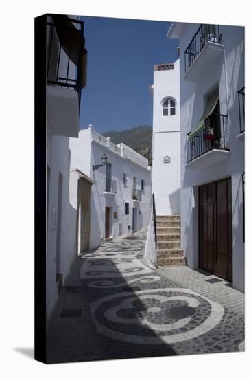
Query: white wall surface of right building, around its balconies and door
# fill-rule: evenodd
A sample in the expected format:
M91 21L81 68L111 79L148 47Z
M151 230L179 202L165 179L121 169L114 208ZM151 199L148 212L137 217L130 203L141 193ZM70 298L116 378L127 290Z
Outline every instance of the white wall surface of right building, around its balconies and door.
M244 170L244 142L239 134L237 91L244 86L244 28L220 26L224 52L217 63L205 67L197 83L186 82L184 51L199 24L187 24L180 36L181 106L181 232L187 265L198 267L198 186L224 177L232 177L232 262L233 286L244 290L244 243L241 173ZM230 157L204 169L186 167L186 134L198 122L204 110L204 95L219 85L220 109L228 115L226 143Z

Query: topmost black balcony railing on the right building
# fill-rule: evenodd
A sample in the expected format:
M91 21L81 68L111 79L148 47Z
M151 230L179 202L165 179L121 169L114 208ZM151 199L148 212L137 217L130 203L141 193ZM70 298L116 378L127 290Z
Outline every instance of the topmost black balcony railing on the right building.
M206 43L209 41L220 43L221 38L222 34L219 34L219 25L207 25L202 23L184 52L185 72L187 72L200 52L202 52Z

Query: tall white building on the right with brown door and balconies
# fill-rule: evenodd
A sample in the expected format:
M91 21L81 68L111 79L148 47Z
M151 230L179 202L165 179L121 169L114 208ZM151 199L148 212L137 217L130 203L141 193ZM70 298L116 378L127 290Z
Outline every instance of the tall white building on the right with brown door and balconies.
M181 232L187 265L244 290L244 28L173 23L180 41Z

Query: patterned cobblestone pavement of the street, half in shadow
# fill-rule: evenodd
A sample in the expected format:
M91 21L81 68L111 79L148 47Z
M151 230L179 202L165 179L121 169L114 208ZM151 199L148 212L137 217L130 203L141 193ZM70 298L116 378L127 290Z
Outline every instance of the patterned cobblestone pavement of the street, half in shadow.
M48 362L244 350L244 295L205 271L151 269L146 232L76 258L48 326Z

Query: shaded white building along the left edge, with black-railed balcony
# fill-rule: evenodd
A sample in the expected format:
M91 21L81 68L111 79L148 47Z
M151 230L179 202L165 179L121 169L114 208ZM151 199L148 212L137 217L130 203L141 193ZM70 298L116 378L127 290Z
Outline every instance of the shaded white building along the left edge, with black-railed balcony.
M85 81L82 21L47 16L47 316L75 257L75 238L68 232L76 218L69 199L69 137L78 136Z

